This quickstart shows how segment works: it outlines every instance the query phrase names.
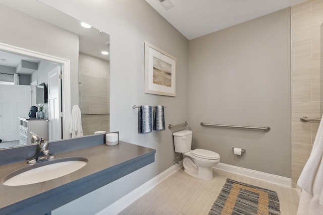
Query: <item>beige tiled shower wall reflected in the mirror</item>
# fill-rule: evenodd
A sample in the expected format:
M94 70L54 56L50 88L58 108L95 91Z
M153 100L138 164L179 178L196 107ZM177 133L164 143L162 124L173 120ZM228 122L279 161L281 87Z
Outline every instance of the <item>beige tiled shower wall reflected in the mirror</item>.
M110 63L79 53L79 107L83 134L110 130Z

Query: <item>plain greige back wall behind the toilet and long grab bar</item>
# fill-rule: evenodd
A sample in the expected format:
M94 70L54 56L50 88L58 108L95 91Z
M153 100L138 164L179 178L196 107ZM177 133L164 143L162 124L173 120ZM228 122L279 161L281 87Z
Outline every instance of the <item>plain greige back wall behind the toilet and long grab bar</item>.
M290 9L189 42L193 149L221 162L291 177ZM202 127L200 122L270 126L269 132ZM244 148L239 157L232 147Z

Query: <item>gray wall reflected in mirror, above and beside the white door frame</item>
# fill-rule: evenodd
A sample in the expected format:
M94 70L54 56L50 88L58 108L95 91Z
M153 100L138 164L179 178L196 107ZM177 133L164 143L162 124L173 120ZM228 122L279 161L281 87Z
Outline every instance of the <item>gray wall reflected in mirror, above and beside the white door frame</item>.
M71 107L78 105L78 36L4 5L0 20L7 20L1 24L1 43L71 60Z

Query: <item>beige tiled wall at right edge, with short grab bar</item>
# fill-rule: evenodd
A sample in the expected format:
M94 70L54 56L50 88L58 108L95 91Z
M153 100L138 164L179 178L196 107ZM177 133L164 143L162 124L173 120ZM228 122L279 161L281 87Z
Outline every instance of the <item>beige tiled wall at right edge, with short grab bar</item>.
M292 187L309 157L320 118L320 25L323 0L309 0L291 9Z

